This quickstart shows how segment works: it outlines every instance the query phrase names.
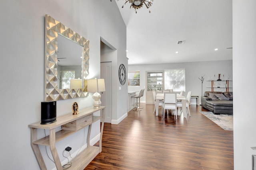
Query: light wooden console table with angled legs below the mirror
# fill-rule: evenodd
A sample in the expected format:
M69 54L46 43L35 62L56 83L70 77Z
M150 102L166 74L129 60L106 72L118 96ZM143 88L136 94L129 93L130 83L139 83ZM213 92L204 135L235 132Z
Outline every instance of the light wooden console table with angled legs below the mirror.
M89 125L88 135L87 135L87 148L84 149L78 156L72 160L72 166L68 168L69 170L83 170L97 155L102 151L102 134L104 128L104 109L106 106L101 106L99 109L94 109L92 107L86 107L79 110L79 114L72 115L68 113L65 115L58 116L57 121L54 123L41 125L40 122L28 125L31 128L31 146L36 155L36 159L40 168L46 170L46 165L44 159L39 150L38 145L49 146L52 152L52 157L54 159L57 170L62 170L62 165L60 163L60 158L56 150L56 142L61 141L65 137L76 133L78 130ZM92 114L96 111L100 111L100 116L93 116ZM90 146L90 132L92 129L92 123L102 118L102 124L100 127L100 141L99 147ZM56 127L62 126L62 130L56 132ZM50 135L42 139L37 139L37 129L47 129L50 130Z

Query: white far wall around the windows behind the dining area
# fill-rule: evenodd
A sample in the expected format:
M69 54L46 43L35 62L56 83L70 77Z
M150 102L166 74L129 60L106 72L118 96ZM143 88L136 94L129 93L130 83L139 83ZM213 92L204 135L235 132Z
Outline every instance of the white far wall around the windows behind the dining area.
M129 71L140 70L140 86L128 86L129 90L140 90L146 86L146 71L158 71L172 68L185 68L186 72L186 92L192 91L192 94L198 94L201 98L201 86L202 82L198 78L204 76L203 82L203 95L205 91L211 91L211 82L207 81L211 77L212 80L218 79L218 74L221 74L221 80L227 80L228 74L231 75L232 80L232 60L226 61L202 61L202 62L190 62L190 63L166 63L166 64L144 64L144 65L129 65ZM215 77L214 77L215 74ZM224 74L224 77L223 77ZM215 91L226 90L214 89ZM145 90L146 91L146 90ZM230 88L230 91L233 91ZM146 95L141 98L141 102L146 100ZM200 100L200 99L199 99ZM200 100L201 102L201 100ZM196 99L191 99L191 104L196 104Z

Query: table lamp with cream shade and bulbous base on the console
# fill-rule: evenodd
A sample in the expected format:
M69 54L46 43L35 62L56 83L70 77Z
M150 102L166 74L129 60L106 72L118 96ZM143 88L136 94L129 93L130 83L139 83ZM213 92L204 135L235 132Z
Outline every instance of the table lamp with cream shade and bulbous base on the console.
M94 99L93 102L93 108L98 109L101 106L101 95L98 92L104 92L105 91L105 81L104 79L90 79L87 80L87 92L95 92L92 95L92 98Z

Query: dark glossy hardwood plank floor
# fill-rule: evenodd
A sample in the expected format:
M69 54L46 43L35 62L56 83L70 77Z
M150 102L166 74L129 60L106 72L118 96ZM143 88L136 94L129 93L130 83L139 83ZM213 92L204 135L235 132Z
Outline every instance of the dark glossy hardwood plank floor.
M233 131L199 113L208 110L191 105L191 117L174 120L155 116L153 104L142 106L118 125L104 124L102 152L84 170L234 169Z

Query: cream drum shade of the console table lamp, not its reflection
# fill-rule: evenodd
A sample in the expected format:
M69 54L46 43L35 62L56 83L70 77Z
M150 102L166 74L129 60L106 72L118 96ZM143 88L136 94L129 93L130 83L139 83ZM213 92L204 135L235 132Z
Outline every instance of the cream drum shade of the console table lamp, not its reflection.
M105 81L101 79L89 79L87 80L87 92L104 92Z

